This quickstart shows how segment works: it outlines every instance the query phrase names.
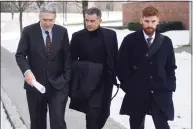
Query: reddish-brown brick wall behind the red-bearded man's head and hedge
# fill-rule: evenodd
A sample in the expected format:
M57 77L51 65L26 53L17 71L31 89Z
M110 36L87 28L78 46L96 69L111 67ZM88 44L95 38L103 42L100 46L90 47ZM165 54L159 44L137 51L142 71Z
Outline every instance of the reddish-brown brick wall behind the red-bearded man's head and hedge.
M148 6L155 6L160 12L160 21L181 21L189 29L188 2L128 2L122 4L123 25L128 22L139 21L142 10Z

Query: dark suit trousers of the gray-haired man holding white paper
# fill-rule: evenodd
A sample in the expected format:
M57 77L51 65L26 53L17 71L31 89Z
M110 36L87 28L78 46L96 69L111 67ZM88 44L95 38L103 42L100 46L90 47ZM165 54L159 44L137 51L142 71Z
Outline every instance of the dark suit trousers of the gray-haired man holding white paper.
M49 107L51 129L66 129L64 116L68 100L67 86L62 90L56 90L47 85L45 94L34 89L26 90L26 95L31 120L30 129L47 129L47 106Z

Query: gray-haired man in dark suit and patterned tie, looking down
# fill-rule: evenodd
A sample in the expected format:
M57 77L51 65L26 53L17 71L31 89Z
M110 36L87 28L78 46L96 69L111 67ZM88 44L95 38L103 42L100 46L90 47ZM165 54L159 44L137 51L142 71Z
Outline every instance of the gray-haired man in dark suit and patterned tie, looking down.
M56 6L52 2L41 6L39 18L40 22L24 27L15 55L25 77L30 129L47 129L48 107L51 129L66 129L71 72L68 32L54 24ZM32 80L45 86L46 92L40 93Z

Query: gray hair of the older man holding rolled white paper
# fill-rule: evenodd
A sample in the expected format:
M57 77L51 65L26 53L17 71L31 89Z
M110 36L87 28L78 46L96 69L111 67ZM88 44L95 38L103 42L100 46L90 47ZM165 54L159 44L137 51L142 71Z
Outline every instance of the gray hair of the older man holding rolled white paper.
M54 2L47 2L40 7L40 13L54 13L56 14L56 4Z

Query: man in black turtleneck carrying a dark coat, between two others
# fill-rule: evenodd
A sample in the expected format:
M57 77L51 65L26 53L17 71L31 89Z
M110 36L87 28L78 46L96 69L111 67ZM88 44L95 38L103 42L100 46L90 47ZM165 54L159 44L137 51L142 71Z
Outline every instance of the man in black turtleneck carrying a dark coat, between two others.
M118 43L115 31L100 27L101 11L86 11L86 28L71 39L70 108L86 114L87 129L102 129L110 115Z

